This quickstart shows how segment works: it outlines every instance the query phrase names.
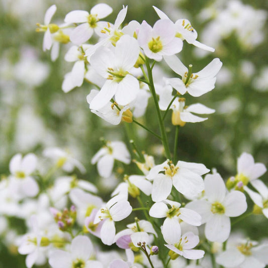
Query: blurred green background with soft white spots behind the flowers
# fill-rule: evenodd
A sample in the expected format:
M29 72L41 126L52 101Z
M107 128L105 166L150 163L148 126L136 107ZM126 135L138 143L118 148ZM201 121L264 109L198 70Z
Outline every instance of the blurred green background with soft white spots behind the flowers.
M162 160L162 148L154 136L133 124L109 125L90 112L85 96L92 85L84 82L68 94L62 92L64 74L72 67L63 59L68 45L61 46L55 62L50 60L49 52L42 51L43 35L35 32L35 25L43 22L48 7L56 4L53 22L62 23L68 12L89 11L97 3L107 3L113 8L114 12L107 18L111 22L122 5L128 5L124 23L146 20L153 25L158 17L152 5L173 21L187 18L197 30L198 40L216 51L207 53L185 43L180 53L184 64L193 64L193 72L197 72L215 57L223 62L215 90L198 98L198 102L215 109L216 113L203 123L188 123L180 129L180 159L215 167L224 178L236 174L237 157L244 151L251 153L256 162L268 165L267 1L1 0L1 174L9 174L9 161L18 152L41 155L46 147L68 148L87 169L86 174L78 173L78 176L96 183L105 196L119 182L116 177L122 172L133 174L136 167L132 164L122 171L123 166L118 164L116 175L119 176L109 180L100 178L96 166L90 163L102 145L100 137L123 140L128 146L129 138L135 138L141 150L155 155L157 163ZM188 105L197 102L190 97ZM150 100L145 116L139 121L159 133L154 113ZM172 141L174 128L169 113L166 129ZM267 174L263 180L267 183ZM10 218L10 223L16 226L17 233L24 232L22 221ZM241 226L251 239L268 236L263 217L252 217ZM25 257L18 255L14 246L14 230L0 223L0 267L25 267Z

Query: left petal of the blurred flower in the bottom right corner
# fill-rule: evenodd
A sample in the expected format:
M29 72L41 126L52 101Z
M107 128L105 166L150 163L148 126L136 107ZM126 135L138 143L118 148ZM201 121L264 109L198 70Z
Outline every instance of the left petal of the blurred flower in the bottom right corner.
M232 248L220 253L216 257L216 262L226 268L232 268L239 266L244 261L244 259L244 255L239 250Z

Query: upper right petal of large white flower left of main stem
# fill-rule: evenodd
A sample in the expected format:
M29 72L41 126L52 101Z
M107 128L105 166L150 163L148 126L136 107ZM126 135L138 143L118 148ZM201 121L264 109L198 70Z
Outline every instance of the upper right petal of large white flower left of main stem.
M136 63L140 53L138 41L131 36L123 35L116 43L116 65L129 70Z

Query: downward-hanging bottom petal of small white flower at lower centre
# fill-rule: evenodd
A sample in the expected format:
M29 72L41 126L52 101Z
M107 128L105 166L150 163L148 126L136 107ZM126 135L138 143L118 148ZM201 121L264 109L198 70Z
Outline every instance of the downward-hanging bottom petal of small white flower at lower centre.
M166 218L162 227L162 234L165 241L175 244L181 237L181 226L177 217Z

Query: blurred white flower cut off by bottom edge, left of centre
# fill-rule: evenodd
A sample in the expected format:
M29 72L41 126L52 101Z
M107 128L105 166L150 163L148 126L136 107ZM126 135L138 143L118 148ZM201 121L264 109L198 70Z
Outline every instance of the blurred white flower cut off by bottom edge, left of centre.
M78 235L71 242L70 252L54 250L49 257L52 268L96 267L103 268L103 264L97 260L91 260L93 244L87 236Z

